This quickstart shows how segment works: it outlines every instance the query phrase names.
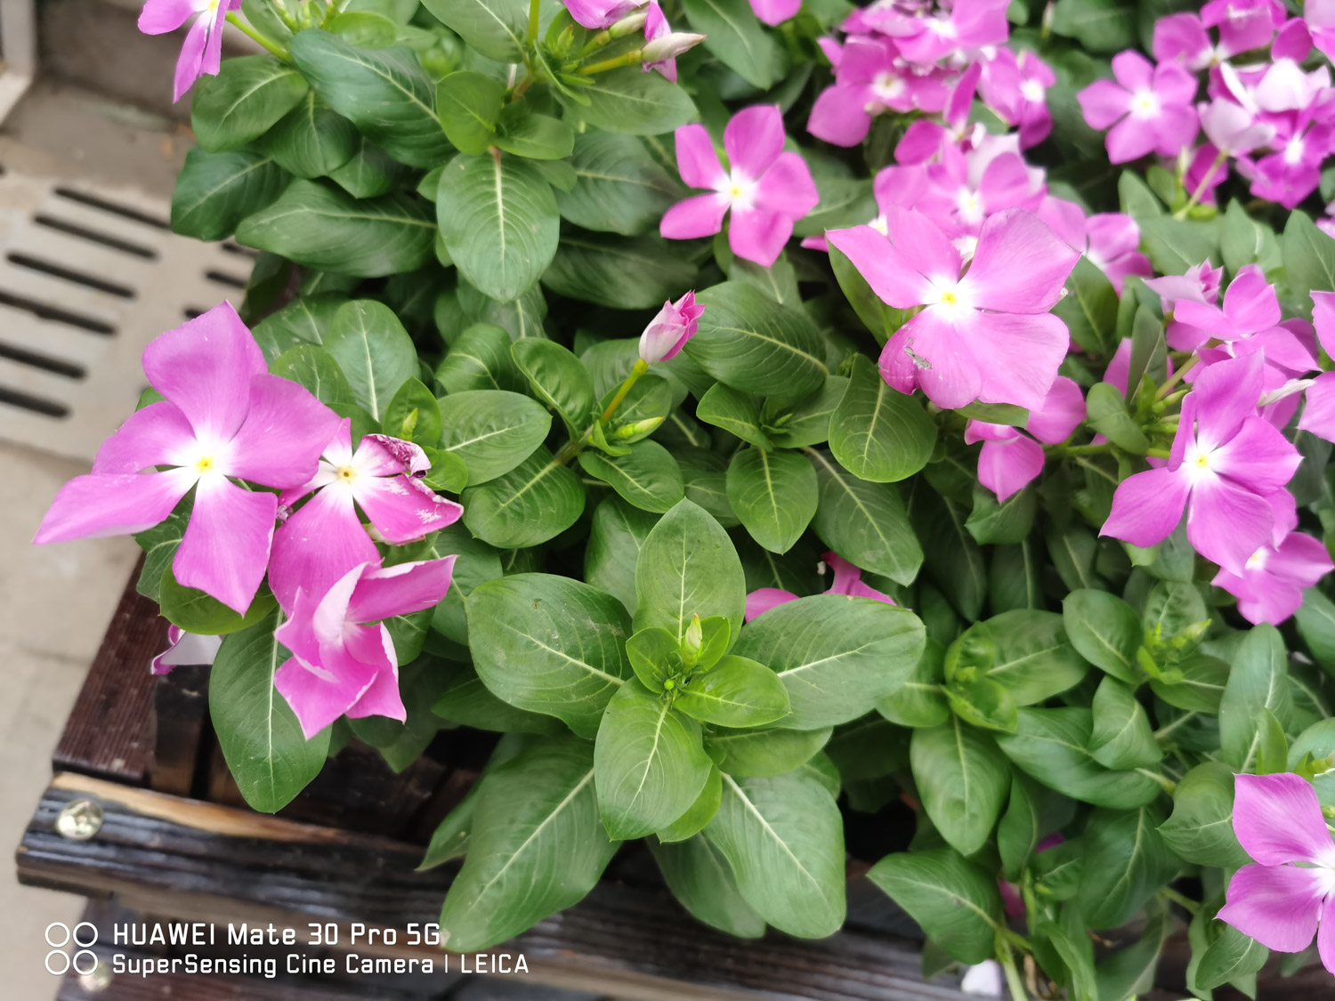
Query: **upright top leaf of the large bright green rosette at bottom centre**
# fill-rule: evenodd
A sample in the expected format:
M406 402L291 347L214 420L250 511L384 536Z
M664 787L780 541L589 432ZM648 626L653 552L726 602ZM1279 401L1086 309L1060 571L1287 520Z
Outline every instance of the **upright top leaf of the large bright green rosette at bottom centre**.
M746 610L746 578L728 533L702 507L681 500L639 550L635 595L635 631L662 626L680 643L694 615L722 615L736 637Z

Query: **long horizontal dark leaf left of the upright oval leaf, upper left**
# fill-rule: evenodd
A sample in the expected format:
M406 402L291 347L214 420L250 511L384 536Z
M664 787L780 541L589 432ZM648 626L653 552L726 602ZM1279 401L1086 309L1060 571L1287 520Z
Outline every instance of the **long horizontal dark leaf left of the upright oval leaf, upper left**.
M430 206L406 194L355 199L339 188L294 180L276 202L236 227L236 242L318 271L380 278L431 259Z

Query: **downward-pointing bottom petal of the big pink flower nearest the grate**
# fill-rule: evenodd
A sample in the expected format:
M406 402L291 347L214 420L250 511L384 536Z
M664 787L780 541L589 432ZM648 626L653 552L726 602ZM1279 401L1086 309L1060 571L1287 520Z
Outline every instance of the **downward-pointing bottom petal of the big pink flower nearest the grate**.
M244 614L264 579L276 515L274 494L243 490L219 474L202 476L172 561L176 581Z

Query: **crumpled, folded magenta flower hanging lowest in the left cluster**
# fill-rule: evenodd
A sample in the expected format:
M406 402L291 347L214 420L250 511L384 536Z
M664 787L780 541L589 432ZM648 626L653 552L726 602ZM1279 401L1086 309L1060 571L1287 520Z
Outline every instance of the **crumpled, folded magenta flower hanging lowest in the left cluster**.
M399 662L383 619L445 601L454 557L382 567L359 563L326 593L299 590L292 617L274 637L292 657L274 685L310 739L340 715L403 721Z

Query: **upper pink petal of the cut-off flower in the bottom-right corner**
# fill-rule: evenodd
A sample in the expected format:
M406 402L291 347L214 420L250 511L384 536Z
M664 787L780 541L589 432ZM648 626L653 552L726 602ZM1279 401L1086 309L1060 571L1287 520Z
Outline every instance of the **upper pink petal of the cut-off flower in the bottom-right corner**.
M1290 771L1234 777L1234 833L1243 852L1262 865L1335 865L1335 842L1316 790Z

